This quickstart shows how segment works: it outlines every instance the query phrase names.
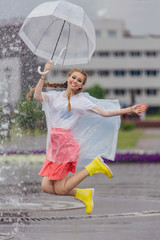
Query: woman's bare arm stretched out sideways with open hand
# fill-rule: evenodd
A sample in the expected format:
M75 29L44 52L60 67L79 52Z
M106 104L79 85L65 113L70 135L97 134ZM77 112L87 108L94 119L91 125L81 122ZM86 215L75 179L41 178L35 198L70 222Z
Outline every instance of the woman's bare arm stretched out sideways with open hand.
M112 109L112 110L106 110L99 106L96 106L92 109L92 111L103 117L113 117L113 116L123 115L123 114L127 114L127 113L135 113L140 116L147 109L148 109L147 105L137 104L137 105L134 105L134 106L128 107L128 108Z

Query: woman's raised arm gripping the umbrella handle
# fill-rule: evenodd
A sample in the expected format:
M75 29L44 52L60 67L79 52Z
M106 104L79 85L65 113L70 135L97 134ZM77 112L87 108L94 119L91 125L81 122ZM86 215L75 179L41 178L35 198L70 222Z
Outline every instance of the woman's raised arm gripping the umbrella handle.
M51 70L52 67L52 63L51 62L47 62L45 67L44 67L44 71L47 70ZM34 99L37 101L42 102L42 88L43 88L43 84L44 84L44 80L46 78L46 74L43 74L39 80L39 82L36 85L35 91L34 91Z

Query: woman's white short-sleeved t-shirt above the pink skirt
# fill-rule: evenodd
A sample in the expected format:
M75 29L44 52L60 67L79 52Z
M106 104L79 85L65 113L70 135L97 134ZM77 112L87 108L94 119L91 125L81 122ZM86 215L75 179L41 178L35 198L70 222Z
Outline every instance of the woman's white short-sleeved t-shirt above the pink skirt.
M97 106L84 93L79 93L71 97L71 111L68 112L68 99L63 94L64 91L42 93L43 106L49 128L73 129L83 113Z

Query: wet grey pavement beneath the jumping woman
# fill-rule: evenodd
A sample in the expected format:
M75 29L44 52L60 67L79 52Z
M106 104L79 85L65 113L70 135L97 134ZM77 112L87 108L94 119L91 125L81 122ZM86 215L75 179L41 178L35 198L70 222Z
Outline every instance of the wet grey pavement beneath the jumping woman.
M160 164L110 164L114 178L86 178L94 211L72 197L41 192L40 163L0 165L0 239L159 240ZM3 234L3 235L2 235Z

